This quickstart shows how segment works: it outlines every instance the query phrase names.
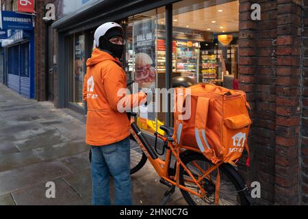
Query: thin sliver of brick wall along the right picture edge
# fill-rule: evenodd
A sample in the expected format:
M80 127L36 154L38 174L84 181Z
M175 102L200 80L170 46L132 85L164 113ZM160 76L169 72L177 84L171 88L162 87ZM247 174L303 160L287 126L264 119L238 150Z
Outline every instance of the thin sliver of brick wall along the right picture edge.
M301 201L308 205L308 0L303 1L303 118L301 129Z

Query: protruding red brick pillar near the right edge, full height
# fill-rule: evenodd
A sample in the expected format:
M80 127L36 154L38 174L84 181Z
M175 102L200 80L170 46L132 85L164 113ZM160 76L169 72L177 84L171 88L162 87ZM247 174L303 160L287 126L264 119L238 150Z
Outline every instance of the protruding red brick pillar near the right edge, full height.
M301 1L277 1L274 203L299 204Z

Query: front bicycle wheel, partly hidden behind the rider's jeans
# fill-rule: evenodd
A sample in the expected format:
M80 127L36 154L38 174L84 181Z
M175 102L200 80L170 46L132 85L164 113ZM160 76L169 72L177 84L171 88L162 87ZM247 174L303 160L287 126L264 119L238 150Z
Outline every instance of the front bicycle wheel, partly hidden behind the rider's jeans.
M131 175L138 172L144 164L146 164L146 160L148 159L146 155L143 153L139 144L136 142L133 136L129 136L129 140L131 141ZM89 153L89 161L91 163L92 160L92 151Z

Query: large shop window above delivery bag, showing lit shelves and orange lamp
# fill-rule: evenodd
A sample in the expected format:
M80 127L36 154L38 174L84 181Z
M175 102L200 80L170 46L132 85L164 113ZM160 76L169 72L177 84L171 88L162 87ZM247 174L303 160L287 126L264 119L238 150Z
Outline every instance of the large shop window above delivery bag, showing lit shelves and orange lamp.
M172 23L173 74L236 88L239 1L179 1Z

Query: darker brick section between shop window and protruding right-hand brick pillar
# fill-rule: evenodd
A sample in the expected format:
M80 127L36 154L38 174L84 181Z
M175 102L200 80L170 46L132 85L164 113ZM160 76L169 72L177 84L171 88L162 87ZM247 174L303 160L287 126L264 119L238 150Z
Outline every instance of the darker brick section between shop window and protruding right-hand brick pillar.
M251 20L251 5L261 6L261 21ZM253 107L253 129L249 137L251 181L261 183L261 199L274 203L274 146L276 131L276 1L240 1L240 89Z

